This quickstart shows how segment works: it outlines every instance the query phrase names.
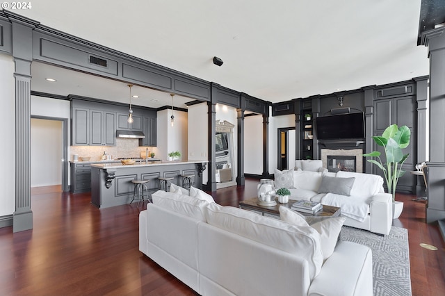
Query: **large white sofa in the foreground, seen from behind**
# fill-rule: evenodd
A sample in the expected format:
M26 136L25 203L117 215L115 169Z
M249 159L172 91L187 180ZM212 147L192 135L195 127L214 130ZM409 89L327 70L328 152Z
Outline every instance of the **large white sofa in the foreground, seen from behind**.
M190 195L152 195L139 216L139 249L200 295L373 294L369 247L337 238L332 245L330 238L327 254L326 233L315 226L219 206L202 192ZM344 221L338 219L334 224ZM341 224L336 227L334 237Z

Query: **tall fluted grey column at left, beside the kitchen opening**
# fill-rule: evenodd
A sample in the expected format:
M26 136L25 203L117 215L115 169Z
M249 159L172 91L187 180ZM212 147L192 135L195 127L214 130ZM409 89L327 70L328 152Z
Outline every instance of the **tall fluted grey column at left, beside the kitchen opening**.
M13 232L33 228L31 211L31 62L33 28L38 23L8 15L15 62L15 212Z

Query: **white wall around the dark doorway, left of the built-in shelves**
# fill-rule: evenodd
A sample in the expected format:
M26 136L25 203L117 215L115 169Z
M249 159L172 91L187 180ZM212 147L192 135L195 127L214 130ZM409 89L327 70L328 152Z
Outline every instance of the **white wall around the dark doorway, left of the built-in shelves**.
M270 111L269 114L272 114L272 110L269 111ZM273 174L274 170L278 167L277 164L278 128L293 127L293 126L295 126L295 115L281 115L281 116L269 117L269 174Z

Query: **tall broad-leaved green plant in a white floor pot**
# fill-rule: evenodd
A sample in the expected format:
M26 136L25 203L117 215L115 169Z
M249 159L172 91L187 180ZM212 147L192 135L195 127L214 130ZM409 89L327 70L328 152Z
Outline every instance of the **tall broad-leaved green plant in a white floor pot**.
M405 171L402 170L402 165L407 160L410 154L403 155L402 149L410 145L411 131L407 126L392 124L385 129L381 136L374 136L374 142L385 149L386 163L382 162L379 151L372 151L368 154L363 154L365 157L377 157L378 161L368 159L370 163L377 165L383 171L385 181L387 183L388 193L392 195L393 202L393 217L397 219L402 213L403 202L396 202L396 187L398 179L400 179Z

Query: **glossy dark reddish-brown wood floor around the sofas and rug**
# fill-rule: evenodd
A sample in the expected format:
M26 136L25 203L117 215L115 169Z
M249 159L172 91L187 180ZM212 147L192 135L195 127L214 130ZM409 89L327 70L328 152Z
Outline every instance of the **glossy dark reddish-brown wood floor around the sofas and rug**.
M218 190L222 205L254 197L257 180ZM425 223L425 204L412 195L394 225L408 229L412 295L445 295L445 243ZM99 210L90 195L33 188L33 230L0 229L0 295L195 295L193 290L138 251L142 204ZM431 251L420 247L435 245Z

